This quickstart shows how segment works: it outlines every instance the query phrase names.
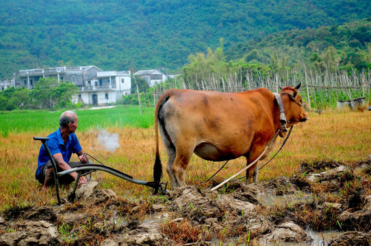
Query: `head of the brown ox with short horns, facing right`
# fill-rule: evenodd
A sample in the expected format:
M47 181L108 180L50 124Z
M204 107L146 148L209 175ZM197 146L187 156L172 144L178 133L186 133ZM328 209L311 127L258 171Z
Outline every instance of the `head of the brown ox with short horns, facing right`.
M287 119L286 127L298 124L298 122L305 122L306 120L309 120L309 115L307 112L304 111L302 107L302 98L298 93L300 85L301 83L296 85L296 87L280 87L280 94Z

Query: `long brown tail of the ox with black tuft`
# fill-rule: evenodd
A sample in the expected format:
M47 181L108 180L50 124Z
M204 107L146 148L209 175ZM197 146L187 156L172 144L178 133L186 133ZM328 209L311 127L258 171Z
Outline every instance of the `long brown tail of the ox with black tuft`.
M156 107L155 107L155 141L156 141L156 147L155 147L155 165L153 165L153 181L158 182L157 187L153 191L153 194L157 194L159 190L159 182L161 181L162 177L162 163L159 159L159 111L164 105L164 103L168 100L170 97L170 91L164 92L162 96L159 98Z

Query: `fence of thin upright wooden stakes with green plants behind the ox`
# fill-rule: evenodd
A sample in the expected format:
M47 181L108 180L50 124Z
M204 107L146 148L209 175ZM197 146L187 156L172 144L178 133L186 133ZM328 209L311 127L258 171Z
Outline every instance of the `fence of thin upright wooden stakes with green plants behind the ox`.
M218 92L243 92L266 87L271 92L279 92L280 86L297 85L309 109L325 109L336 107L340 100L353 100L366 98L366 103L371 100L371 71L363 72L305 72L290 71L285 75L270 72L264 76L259 72L241 71L240 73L220 76L212 74L206 78L170 79L153 88L151 93L139 93L129 96L138 96L140 106L154 107L159 96L170 88L209 90Z

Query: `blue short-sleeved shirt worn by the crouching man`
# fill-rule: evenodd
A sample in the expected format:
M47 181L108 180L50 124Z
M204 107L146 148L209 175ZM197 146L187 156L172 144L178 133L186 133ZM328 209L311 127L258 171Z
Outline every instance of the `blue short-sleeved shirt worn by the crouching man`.
M73 153L77 153L82 150L79 139L77 139L75 133L71 133L68 136L68 140L66 144L64 144L62 135L60 133L60 128L51 135L48 136L49 140L47 141L48 148L51 152L51 156L53 154L61 153L63 156L63 160L68 163L71 159L71 155ZM38 178L38 174L40 174L42 167L49 161L49 155L47 150L45 150L44 145L41 145L40 152L38 154L38 169L36 170L36 179Z

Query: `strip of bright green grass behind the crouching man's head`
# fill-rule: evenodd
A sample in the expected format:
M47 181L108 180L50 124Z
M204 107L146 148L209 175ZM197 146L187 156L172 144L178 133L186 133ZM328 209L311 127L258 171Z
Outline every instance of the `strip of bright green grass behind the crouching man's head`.
M38 133L54 131L59 126L61 111L0 111L0 136L9 133ZM149 128L153 126L154 109L138 106L118 106L111 109L76 110L79 131L91 128L131 126Z

